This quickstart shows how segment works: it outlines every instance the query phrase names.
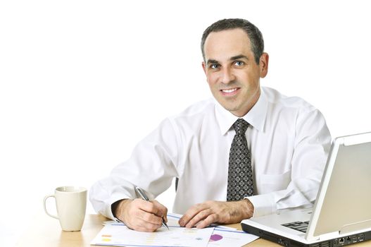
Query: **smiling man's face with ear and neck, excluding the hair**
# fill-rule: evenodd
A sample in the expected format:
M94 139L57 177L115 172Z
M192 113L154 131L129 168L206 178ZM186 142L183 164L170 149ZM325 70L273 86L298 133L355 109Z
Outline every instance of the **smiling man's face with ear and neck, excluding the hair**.
M256 64L249 36L242 29L210 32L202 63L216 100L236 116L244 116L260 96L260 77L268 72L268 54Z

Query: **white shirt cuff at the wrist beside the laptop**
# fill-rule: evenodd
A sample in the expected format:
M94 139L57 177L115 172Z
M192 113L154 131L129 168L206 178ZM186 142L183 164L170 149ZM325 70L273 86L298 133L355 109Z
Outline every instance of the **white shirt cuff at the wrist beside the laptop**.
M253 195L247 197L253 204L253 217L260 217L263 215L270 215L277 211L275 198L272 193L263 195Z

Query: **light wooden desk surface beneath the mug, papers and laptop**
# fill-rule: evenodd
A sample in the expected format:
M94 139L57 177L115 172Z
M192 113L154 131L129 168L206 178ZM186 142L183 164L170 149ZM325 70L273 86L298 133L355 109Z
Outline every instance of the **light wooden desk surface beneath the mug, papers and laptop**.
M62 231L57 219L51 218L45 214L37 215L32 221L34 222L24 236L18 241L17 246L47 246L47 247L81 247L90 246L90 241L102 229L102 222L107 220L101 215L87 215L81 231ZM240 224L230 224L229 227L241 229ZM264 239L258 239L246 246L279 246L277 243L272 243ZM352 246L371 246L371 241L357 243Z

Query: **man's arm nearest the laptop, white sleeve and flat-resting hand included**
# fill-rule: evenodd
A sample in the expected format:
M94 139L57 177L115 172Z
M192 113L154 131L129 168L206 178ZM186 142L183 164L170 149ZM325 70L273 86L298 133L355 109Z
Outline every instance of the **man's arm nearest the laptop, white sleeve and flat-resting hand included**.
M237 223L241 219L268 215L285 208L310 205L315 200L331 144L325 119L318 110L301 112L296 123L295 148L291 161L291 182L282 191L253 195L239 202L206 202L194 205L180 225ZM236 213L237 216L234 216ZM204 219L204 220L203 220ZM201 222L203 220L203 222Z

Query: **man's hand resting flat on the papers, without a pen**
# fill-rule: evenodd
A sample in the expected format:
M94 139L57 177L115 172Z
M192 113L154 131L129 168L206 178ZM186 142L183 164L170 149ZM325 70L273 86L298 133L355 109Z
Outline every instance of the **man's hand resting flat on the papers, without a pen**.
M199 203L187 210L179 220L181 227L197 228L208 227L213 223L232 224L239 223L242 219L249 219L253 216L253 204L249 199L220 202L208 200Z

